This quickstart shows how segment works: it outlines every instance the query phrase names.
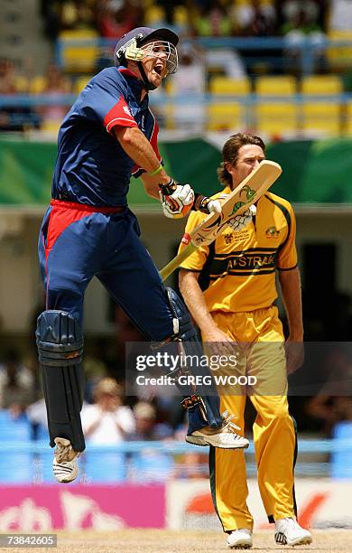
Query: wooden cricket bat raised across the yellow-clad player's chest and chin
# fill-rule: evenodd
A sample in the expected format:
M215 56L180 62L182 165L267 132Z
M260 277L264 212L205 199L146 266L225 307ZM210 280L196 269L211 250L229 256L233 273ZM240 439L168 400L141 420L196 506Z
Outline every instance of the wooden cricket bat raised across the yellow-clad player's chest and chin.
M199 246L211 244L227 226L228 221L236 215L242 215L250 205L257 202L281 173L283 173L283 169L279 164L266 159L262 161L252 173L245 177L242 183L225 196L220 214L210 213L190 234L183 235L181 243L185 245L185 248L162 268L160 271L162 280L166 280ZM219 200L221 201L220 198Z

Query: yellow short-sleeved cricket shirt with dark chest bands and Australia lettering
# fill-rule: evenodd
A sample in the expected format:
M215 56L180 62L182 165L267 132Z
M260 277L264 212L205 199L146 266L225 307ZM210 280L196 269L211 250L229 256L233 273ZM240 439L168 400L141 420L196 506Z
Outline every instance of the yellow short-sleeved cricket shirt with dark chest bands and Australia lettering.
M227 187L213 196L231 192ZM245 229L229 227L210 246L201 246L181 268L200 272L208 311L254 311L277 297L275 269L297 266L296 221L292 205L271 192L256 204L256 215ZM185 232L193 230L204 213L191 211ZM180 250L184 246L181 244Z

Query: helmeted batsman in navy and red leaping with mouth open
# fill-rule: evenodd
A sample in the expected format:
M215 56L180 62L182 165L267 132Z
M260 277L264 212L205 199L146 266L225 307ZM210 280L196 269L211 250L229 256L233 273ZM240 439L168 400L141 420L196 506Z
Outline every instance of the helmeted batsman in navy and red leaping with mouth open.
M167 217L221 209L190 184L174 182L158 151L148 94L177 70L178 40L169 29L126 33L116 44L115 67L89 81L60 127L51 205L39 239L46 310L38 318L36 340L50 444L56 445L53 473L62 483L78 476L77 458L85 449L82 319L89 281L97 277L148 340L197 343L190 314L175 292L162 286L126 201L134 175L142 177L148 194L161 199ZM187 441L247 447L220 415L218 396L183 392Z

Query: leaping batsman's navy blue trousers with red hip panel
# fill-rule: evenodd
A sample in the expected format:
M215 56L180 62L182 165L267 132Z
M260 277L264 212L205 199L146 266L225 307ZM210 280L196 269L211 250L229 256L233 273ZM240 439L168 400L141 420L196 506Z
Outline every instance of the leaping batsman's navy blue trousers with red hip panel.
M171 307L132 211L51 203L39 239L46 309L65 311L82 327L84 294L97 277L148 340L170 337ZM199 408L189 411L189 434L207 424Z

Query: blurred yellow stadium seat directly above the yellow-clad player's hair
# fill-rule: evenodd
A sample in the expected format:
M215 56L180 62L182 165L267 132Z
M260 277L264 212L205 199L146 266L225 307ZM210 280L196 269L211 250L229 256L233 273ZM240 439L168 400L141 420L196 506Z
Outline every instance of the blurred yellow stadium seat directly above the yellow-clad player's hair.
M212 131L245 128L245 108L239 102L211 103L207 110L207 128Z

